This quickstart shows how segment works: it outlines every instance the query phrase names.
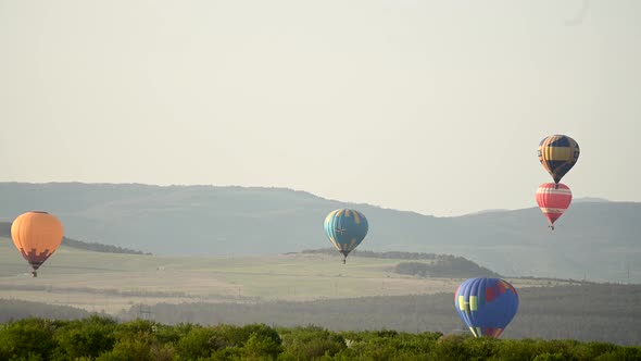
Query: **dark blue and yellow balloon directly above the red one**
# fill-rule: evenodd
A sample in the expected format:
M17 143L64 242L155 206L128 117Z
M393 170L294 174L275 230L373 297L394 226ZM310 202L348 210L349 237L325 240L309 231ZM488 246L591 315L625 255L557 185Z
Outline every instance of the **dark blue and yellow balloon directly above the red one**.
M577 163L579 153L576 140L565 135L549 136L539 144L539 161L556 184Z

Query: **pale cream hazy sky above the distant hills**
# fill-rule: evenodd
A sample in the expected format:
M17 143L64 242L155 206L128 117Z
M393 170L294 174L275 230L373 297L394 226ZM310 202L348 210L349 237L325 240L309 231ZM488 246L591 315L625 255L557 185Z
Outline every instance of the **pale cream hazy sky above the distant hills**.
M0 180L641 201L641 1L0 0ZM0 200L1 201L1 200Z

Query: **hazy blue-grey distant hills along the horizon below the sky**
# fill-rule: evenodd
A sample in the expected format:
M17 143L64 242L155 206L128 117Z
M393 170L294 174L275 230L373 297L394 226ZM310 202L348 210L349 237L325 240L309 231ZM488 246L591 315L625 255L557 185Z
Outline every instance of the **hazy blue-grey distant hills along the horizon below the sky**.
M200 256L326 247L325 215L351 207L369 220L360 250L461 256L506 276L641 282L636 202L575 202L551 232L535 207L435 217L282 188L0 183L0 220L48 210L74 239Z

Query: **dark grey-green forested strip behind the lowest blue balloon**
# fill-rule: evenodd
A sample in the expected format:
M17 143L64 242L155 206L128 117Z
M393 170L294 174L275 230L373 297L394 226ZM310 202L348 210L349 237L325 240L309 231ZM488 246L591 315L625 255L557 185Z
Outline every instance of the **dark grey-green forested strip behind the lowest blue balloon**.
M518 290L519 310L503 338L578 339L641 345L641 286L575 285ZM334 331L466 331L453 294L362 297L314 302L158 304L149 309L162 323L317 325ZM140 316L133 307L122 316Z

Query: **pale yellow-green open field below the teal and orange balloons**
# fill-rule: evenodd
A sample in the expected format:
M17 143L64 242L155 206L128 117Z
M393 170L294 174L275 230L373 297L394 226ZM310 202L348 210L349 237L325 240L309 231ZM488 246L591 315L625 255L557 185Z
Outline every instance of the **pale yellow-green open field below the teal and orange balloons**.
M457 278L391 272L403 260L324 254L155 257L61 247L37 278L9 238L0 238L0 298L115 313L133 304L317 300L453 292ZM513 279L516 287L545 285Z

